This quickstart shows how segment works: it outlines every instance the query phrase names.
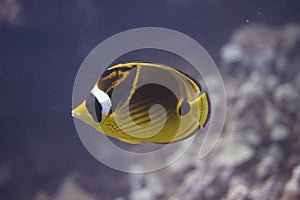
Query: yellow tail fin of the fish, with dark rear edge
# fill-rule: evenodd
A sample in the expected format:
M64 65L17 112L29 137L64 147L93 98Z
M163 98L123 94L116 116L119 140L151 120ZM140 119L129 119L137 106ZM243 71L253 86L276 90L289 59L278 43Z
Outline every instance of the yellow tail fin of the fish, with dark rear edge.
M192 104L196 104L198 109L200 109L199 123L202 127L205 127L210 118L210 100L207 93L201 94L197 99L195 99Z

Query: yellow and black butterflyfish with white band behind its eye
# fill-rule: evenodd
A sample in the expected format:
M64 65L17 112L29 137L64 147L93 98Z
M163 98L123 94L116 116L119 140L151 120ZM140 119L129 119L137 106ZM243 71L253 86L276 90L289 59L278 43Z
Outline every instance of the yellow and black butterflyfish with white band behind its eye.
M170 143L204 127L208 94L190 76L165 65L130 62L108 67L72 116L123 142Z

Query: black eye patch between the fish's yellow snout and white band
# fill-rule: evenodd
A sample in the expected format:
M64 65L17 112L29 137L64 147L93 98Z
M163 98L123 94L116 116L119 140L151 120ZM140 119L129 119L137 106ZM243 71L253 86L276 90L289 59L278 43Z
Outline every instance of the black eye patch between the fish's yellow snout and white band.
M90 94L85 100L86 108L89 114L92 116L95 122L101 122L102 118L102 106L97 98Z

